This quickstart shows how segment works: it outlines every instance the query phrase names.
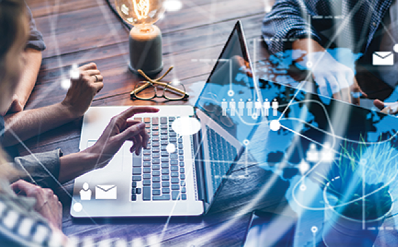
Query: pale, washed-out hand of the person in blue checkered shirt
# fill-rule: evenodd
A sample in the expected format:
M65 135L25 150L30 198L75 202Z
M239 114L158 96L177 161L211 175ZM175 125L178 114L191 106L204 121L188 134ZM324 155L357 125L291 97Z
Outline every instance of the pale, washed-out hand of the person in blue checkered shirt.
M334 99L357 105L360 104L360 96L366 97L353 70L338 62L327 51L313 52L299 64L312 71L320 95L333 96Z

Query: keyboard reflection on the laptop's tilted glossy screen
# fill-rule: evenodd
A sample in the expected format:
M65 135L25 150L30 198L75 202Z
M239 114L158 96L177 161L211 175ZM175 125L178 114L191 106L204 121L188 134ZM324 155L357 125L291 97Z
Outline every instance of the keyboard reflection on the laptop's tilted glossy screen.
M233 160L237 156L236 148L226 141L220 134L206 126L211 177L213 178L213 193L218 189L222 177L228 172Z

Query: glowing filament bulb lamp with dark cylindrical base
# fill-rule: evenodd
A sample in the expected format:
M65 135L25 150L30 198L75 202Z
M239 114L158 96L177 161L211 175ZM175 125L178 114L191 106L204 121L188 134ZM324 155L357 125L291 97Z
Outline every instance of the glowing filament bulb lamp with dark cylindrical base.
M153 25L165 12L163 0L115 0L117 12L133 25L129 49L131 71L148 75L163 69L161 30Z

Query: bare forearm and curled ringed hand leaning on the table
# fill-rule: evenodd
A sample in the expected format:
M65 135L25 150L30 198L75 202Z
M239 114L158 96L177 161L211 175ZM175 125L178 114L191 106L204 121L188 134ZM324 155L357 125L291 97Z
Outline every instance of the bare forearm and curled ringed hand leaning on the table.
M80 67L80 78L71 80L71 88L61 103L5 116L3 146L15 145L81 117L104 86L102 80L97 65L86 64Z

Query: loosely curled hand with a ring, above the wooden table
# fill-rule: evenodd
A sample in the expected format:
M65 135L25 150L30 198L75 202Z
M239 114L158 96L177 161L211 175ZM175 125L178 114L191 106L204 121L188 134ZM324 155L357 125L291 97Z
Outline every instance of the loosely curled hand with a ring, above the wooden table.
M71 87L62 105L67 106L74 117L82 116L91 105L94 96L104 86L103 80L95 63L83 65L79 68L79 75L71 78Z

